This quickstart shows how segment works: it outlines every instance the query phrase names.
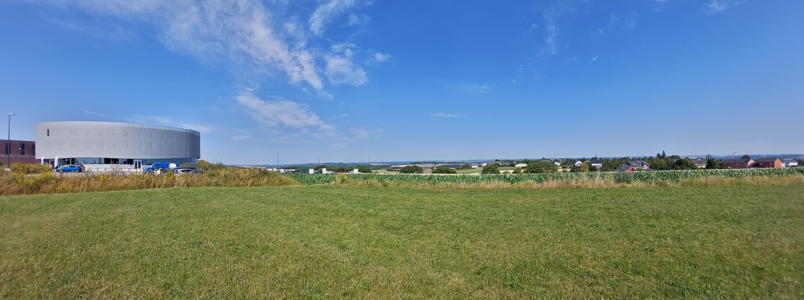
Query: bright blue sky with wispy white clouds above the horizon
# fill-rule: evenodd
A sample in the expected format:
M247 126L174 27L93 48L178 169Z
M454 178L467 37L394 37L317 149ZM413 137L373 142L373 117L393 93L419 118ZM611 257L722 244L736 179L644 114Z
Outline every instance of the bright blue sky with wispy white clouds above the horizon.
M238 164L802 153L802 15L759 0L0 0L0 103L12 139L43 121L158 124Z

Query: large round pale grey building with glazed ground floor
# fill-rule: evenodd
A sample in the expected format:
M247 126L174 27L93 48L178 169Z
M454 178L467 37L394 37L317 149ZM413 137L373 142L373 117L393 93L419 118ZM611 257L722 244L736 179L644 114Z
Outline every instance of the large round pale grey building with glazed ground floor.
M36 158L59 166L142 168L154 163L197 164L201 134L167 126L113 122L36 124Z

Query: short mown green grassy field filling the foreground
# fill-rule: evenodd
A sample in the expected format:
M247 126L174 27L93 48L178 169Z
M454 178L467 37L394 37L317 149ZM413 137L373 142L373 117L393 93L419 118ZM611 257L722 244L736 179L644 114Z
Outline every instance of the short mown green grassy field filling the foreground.
M804 298L804 185L0 197L0 298Z

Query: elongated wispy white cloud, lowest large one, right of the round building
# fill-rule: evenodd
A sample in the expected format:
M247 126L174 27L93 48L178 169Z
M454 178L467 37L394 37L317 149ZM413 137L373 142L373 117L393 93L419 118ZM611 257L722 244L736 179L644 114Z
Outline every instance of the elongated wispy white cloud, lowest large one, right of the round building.
M251 91L244 91L237 96L237 102L248 107L254 119L270 127L284 124L292 128L335 129L334 126L319 119L306 105L287 99L277 97L275 100L263 100L257 98Z

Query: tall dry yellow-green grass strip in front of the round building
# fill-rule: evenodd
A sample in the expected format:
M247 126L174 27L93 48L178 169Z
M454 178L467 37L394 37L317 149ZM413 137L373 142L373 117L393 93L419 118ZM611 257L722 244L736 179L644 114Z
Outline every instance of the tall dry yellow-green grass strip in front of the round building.
M12 172L0 172L0 195L81 193L128 189L179 187L245 187L296 185L296 180L259 168L213 168L207 173L125 174L124 172L68 173L27 172L19 166Z

